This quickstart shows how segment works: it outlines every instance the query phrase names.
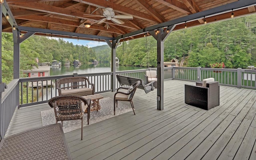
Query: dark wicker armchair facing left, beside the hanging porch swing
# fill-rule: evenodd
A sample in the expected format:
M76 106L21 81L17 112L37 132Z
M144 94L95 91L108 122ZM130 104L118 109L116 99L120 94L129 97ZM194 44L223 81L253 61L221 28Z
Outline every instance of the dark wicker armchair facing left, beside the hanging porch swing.
M136 81L134 84L131 86L127 87L119 87L117 89L117 92L114 95L114 115L116 115L116 107L117 107L117 102L120 101L129 101L132 105L132 110L134 112L134 105L132 103L132 98L134 96L134 93L138 86L140 85L140 81ZM127 92L118 92L119 89L128 89ZM134 112L135 115L135 112Z

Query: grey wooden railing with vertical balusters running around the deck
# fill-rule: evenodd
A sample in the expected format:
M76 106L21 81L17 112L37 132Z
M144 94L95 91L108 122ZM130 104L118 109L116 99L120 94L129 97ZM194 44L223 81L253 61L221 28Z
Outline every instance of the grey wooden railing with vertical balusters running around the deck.
M152 68L156 70L157 68ZM148 69L117 71L116 74L144 79ZM47 102L50 98L57 96L55 82L59 78L72 76L85 76L91 83L95 84L95 92L109 92L112 90L112 72L95 74L73 74L62 76L48 76L38 78L14 79L8 84L8 89L2 92L2 107L0 108L0 134L4 135L10 124L12 115L17 107L31 106ZM222 68L189 68L168 67L164 68L164 79L177 79L186 81L202 81L213 77L220 85L238 88L256 89L256 70L222 69ZM44 86L45 85L45 86ZM28 87L27 87L28 86ZM116 80L115 87L118 88ZM19 98L17 98L19 97Z

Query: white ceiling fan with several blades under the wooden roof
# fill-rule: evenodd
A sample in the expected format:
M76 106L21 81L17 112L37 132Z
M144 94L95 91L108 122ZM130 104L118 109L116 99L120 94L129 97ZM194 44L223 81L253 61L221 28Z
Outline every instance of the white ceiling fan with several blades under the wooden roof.
M102 24L106 20L111 20L115 24L124 24L124 21L120 19L125 19L125 20L132 20L133 16L131 15L126 15L126 14L120 14L120 15L115 15L115 12L113 8L107 7L103 10L103 15L94 15L94 14L84 14L84 16L97 16L97 17L104 17L100 20L97 21L97 24Z

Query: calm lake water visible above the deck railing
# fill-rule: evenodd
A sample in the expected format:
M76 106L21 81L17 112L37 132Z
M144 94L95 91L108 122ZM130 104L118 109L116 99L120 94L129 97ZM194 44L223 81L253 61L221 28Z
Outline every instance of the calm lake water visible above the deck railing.
M116 66L116 71L122 70L138 70L138 69L146 69L146 67L134 67L134 66ZM86 74L86 73L103 73L103 72L111 72L110 64L82 64L79 67L70 66L62 66L62 68L53 67L50 70L51 76L57 75L69 75L73 73L77 74Z

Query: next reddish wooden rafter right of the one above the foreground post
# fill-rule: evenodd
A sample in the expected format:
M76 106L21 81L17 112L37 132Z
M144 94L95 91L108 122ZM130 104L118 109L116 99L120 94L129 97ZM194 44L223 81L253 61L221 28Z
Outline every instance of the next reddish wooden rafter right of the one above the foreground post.
M190 10L178 0L155 0L156 2L162 3L174 10L178 10L184 14L191 14Z

